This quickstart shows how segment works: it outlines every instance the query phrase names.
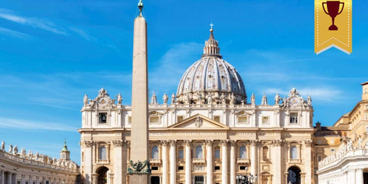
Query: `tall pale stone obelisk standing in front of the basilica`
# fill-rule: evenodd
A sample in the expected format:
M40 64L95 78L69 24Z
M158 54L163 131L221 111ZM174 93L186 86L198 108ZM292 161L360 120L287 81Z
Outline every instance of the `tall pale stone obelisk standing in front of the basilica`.
M130 155L134 163L149 161L148 152L148 70L147 23L142 15L142 0L138 3L140 14L134 19L133 73L132 73L132 122ZM132 168L132 167L131 167ZM149 168L150 169L150 168ZM148 173L131 174L130 184L148 184Z

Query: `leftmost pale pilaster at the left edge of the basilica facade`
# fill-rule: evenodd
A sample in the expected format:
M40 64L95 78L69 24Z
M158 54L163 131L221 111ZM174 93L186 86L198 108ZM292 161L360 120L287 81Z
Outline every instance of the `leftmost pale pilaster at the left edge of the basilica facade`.
M91 184L92 182L92 141L84 141L84 170L85 170L85 184ZM43 183L45 183L45 178L43 178Z

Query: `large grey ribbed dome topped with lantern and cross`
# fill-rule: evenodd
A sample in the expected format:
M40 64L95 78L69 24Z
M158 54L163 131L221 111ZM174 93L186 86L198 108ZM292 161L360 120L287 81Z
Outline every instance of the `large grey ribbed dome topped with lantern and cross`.
M243 80L236 69L222 59L218 42L213 37L213 30L210 31L202 58L192 64L180 79L177 90L178 103L208 103L206 98L209 95L213 95L211 103L247 103ZM235 102L230 102L232 94L235 96ZM220 99L221 96L225 100ZM201 102L198 102L198 98L202 98Z

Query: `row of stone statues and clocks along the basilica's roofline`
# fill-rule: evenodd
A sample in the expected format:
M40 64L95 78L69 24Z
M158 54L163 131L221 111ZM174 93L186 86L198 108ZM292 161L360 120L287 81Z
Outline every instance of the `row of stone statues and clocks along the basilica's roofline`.
M212 105L212 104L235 105L237 104L236 96L234 95L234 93L231 93L231 94L221 93L220 98L218 100L215 100L215 102L213 100L213 95L214 95L213 93L208 93L206 96L204 94L205 92L203 91L197 91L197 93L195 93L194 95L187 93L183 98L184 101L181 101L181 100L178 100L175 96L175 93L173 93L171 95L171 104L200 104L200 105L201 104L208 104L208 105ZM95 99L88 99L88 96L84 95L83 103L84 103L84 107L89 107L92 109L93 108L101 108L101 109L112 108L114 109L117 105L119 106L121 105L122 99L123 98L120 93L116 95L116 99L112 99L109 93L107 93L106 89L101 88L99 90L98 96L96 96ZM282 108L310 109L312 107L311 96L308 95L307 99L305 100L295 88L290 90L288 97L284 96L284 98L281 98L279 93L276 93L276 96L274 99L275 99L275 105L279 105ZM115 103L116 100L117 100L117 104ZM163 105L168 104L169 96L166 95L166 93L164 93L164 95L162 96L162 100L163 100ZM157 102L157 96L155 92L153 92L151 96L151 103L149 104L159 105L159 103ZM243 100L241 102L241 105L245 105L245 104L247 104L247 102ZM254 93L252 93L250 104L256 105ZM261 106L267 106L267 105L269 104L268 104L268 100L266 97L266 93L263 93Z

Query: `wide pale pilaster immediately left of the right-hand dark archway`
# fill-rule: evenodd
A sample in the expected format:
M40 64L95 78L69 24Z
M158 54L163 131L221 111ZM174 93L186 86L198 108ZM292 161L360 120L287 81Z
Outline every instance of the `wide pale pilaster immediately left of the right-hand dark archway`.
M275 184L282 184L282 168L281 167L281 140L273 140L272 141L272 165L273 165L273 182ZM284 173L285 174L285 173ZM287 183L287 173L286 177L284 177L285 180L283 183Z

